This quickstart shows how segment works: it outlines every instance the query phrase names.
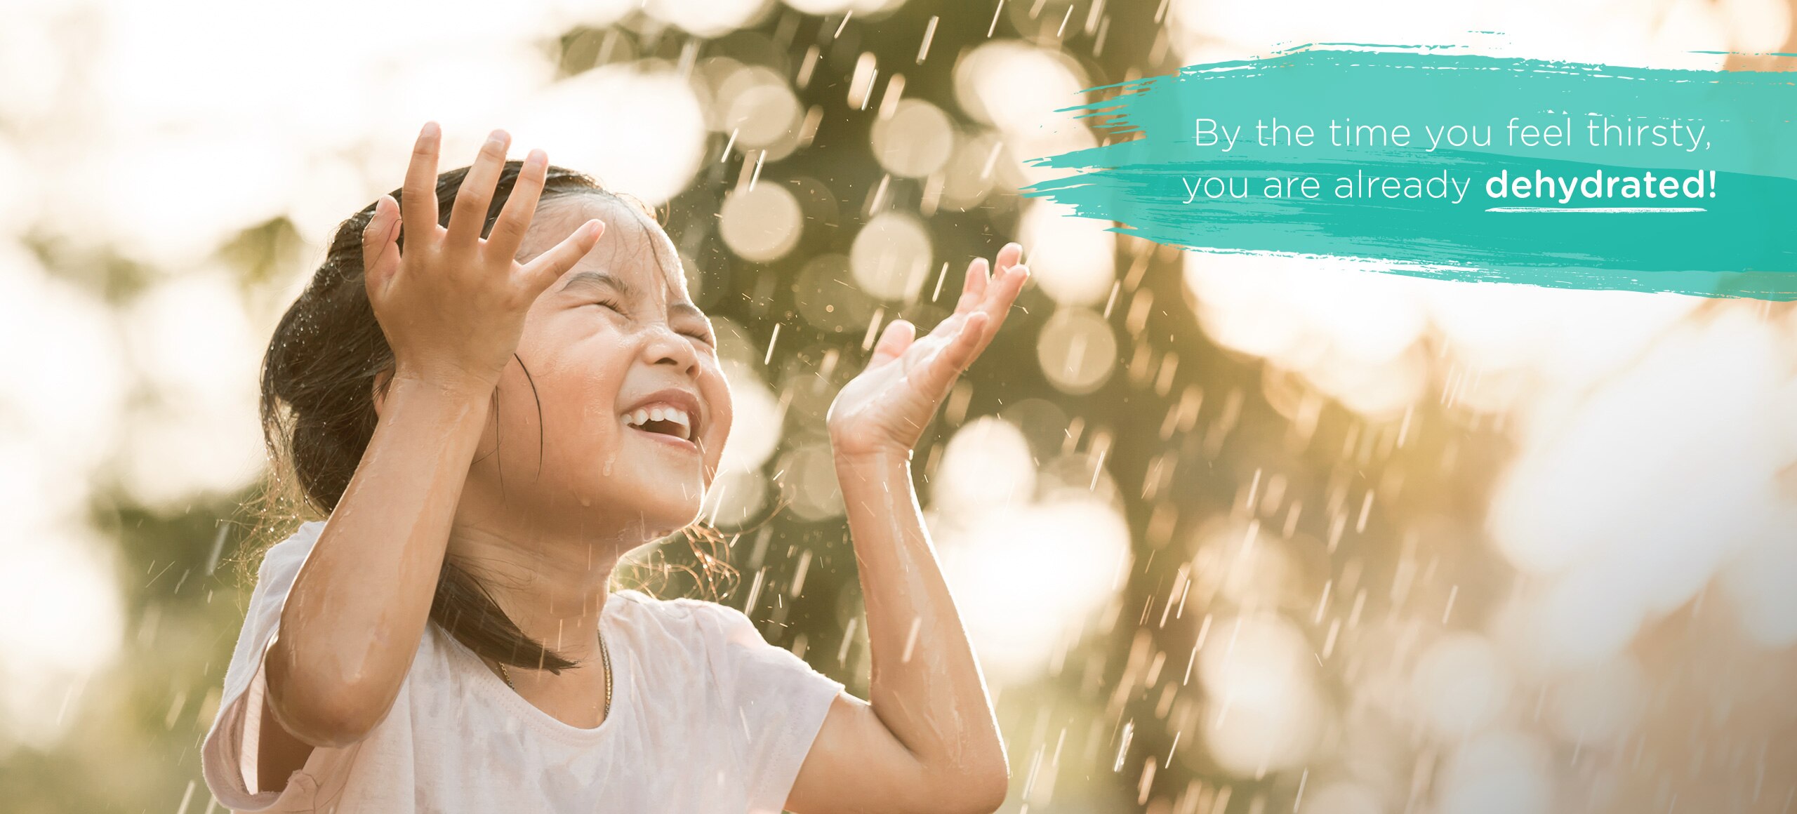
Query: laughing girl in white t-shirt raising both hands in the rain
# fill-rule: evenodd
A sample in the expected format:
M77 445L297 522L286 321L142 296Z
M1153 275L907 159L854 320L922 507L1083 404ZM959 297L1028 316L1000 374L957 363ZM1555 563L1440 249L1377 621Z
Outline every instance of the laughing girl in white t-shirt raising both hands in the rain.
M234 810L994 810L1005 746L911 449L1028 279L974 261L830 406L870 701L740 611L607 591L730 433L715 336L642 205L494 135L343 223L262 372L313 521L268 550L203 744ZM539 207L541 199L541 207ZM604 241L600 235L604 234Z

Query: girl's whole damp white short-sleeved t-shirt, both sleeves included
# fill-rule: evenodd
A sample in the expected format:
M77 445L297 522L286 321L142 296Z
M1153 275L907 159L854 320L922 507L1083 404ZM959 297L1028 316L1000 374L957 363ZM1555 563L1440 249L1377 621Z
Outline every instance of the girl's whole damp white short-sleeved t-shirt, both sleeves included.
M742 611L620 589L600 618L611 713L564 724L428 624L392 710L363 740L316 748L257 792L262 654L322 521L268 550L207 731L207 787L232 810L749 812L785 805L843 685L769 645Z

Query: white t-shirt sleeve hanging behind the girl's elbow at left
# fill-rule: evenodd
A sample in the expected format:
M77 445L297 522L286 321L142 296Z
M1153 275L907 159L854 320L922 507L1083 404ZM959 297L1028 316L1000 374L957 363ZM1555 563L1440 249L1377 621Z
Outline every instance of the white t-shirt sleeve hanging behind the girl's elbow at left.
M322 521L305 523L282 543L262 555L250 609L244 613L237 647L225 668L225 694L219 712L207 730L199 751L199 767L207 789L232 810L286 810L300 807L316 791L313 778L295 771L279 792L255 792L257 744L262 726L262 692L266 688L262 658L280 627L280 609L286 604L293 579L298 577L305 555L318 541ZM314 758L316 758L314 749ZM309 809L309 805L305 805Z

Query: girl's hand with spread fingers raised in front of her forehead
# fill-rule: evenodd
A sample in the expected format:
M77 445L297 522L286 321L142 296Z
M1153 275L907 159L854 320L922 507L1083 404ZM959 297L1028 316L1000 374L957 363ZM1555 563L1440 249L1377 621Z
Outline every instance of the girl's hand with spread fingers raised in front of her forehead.
M492 131L456 190L449 226L437 223L442 133L426 122L412 151L404 203L376 201L363 232L368 304L394 349L395 376L487 395L518 349L537 295L584 257L604 223L593 219L527 264L514 261L536 216L548 156L532 149L489 237L480 237L510 137ZM404 252L399 250L404 225Z

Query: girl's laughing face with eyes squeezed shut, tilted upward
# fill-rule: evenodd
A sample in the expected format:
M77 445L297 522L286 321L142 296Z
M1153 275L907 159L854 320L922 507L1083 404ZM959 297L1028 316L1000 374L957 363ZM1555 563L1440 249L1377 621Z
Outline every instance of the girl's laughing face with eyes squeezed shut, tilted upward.
M730 388L679 255L642 212L593 194L544 199L519 261L589 217L606 234L527 313L465 492L543 530L622 532L634 546L699 518L730 435ZM665 422L631 426L633 408L663 404L652 395L665 390L695 399L692 444L652 431Z

